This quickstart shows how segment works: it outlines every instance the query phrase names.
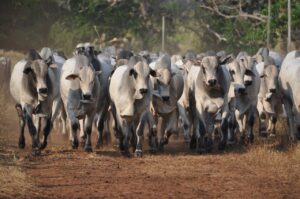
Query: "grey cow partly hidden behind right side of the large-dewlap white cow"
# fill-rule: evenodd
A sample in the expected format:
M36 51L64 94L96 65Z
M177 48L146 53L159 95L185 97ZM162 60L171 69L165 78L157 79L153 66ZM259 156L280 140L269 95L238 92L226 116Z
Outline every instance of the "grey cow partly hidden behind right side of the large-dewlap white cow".
M156 122L158 117L162 118L159 149L163 150L169 137L177 132L177 101L182 95L184 81L181 71L171 67L171 59L167 54L159 57L153 69L157 76L151 78L154 88L152 113Z

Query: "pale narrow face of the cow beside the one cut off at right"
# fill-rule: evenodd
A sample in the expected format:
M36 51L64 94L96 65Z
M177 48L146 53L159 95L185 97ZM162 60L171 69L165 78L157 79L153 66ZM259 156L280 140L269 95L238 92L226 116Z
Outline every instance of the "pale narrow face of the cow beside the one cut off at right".
M266 86L266 100L270 100L272 94L276 93L278 89L278 74L278 68L272 64L265 66L263 74L260 76L261 81L264 81Z

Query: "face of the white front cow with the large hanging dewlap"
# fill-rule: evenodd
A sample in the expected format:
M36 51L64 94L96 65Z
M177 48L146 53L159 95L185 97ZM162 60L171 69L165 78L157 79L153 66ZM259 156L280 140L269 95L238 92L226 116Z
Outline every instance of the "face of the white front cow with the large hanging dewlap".
M148 93L150 75L156 76L156 72L145 62L139 61L130 69L129 76L133 77L135 99L142 99Z

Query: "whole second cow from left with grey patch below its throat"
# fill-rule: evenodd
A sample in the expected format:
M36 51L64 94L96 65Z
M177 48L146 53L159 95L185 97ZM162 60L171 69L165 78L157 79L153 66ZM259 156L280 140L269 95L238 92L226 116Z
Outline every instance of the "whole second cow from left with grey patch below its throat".
M100 82L88 58L75 55L63 67L60 79L60 93L64 108L70 120L72 147L78 147L77 130L79 119L84 119L85 151L92 151L91 131L96 113L99 111Z

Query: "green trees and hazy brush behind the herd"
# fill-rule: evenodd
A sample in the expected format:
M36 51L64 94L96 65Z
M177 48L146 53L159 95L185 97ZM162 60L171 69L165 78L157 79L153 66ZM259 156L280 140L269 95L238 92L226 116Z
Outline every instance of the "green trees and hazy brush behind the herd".
M292 0L293 48L300 41L300 1ZM6 0L0 7L0 48L50 46L67 54L78 42L126 38L134 50L225 49L254 53L266 45L267 0ZM284 53L287 0L271 0L271 47ZM96 32L96 30L97 32ZM99 35L98 35L99 34ZM98 40L97 40L98 39Z

